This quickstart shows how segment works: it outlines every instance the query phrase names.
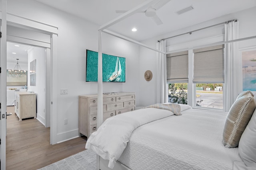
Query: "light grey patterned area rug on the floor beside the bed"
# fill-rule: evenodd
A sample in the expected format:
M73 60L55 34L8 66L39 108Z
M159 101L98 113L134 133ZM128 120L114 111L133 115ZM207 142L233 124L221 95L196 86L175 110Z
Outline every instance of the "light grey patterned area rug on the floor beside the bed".
M96 153L87 149L39 170L96 170Z

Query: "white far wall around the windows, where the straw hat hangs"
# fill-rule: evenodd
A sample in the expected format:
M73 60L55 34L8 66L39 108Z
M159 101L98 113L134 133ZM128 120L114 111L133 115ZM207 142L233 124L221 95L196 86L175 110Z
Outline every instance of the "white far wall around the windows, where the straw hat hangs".
M193 30L197 30L200 28L204 28L207 26L211 26L211 25L218 24L218 23L225 22L225 21L232 20L232 19L238 19L238 21L239 21L239 26L240 26L239 27L240 37L239 38L255 36L256 35L255 16L256 16L256 8L250 8L248 10L243 10L240 12L236 12L234 14L222 16L222 17L219 17L219 18L216 18L213 20L209 20L207 22L203 22L201 24L190 26L188 28L176 30L174 32L170 32L170 33L163 34L163 35L160 35L160 36L157 36L154 38L150 38L148 40L143 41L142 43L154 47L156 45L156 42L163 38L168 38L168 37L175 36L178 34L183 34L185 32L190 32ZM168 39L168 40L166 40L166 45L172 46L172 45L176 45L176 44L185 44L186 42L191 42L191 41L200 40L200 39L204 39L204 38L214 37L214 36L218 36L221 34L224 34L224 24L221 26L208 28L208 29L201 30L198 32L193 32L191 35L186 34L183 36L178 36L176 38ZM256 46L256 40L252 39L252 40L246 40L243 42L239 42L240 49L244 48L244 47L248 47L248 46ZM240 60L240 61L242 62L242 60ZM150 68L153 73L153 79L150 82L146 82L146 81L140 79L140 87L139 87L140 101L138 101L138 102L144 106L158 103L158 102L160 102L160 99L155 98L157 96L157 94L155 94L156 89L159 86L159 82L154 78L157 76L156 73L157 73L157 69L158 69L158 65L156 65L156 53L152 50L144 49L142 47L142 48L140 48L140 75L141 76L144 75L144 71L146 71L148 68ZM241 68L242 67L240 67L240 69ZM242 81L242 79L240 79L240 81ZM238 89L238 91L235 93L239 93L240 91L242 91L241 88Z

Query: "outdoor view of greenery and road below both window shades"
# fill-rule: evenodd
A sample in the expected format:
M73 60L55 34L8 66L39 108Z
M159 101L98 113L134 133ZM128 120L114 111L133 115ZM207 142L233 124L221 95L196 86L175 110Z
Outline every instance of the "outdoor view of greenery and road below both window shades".
M197 83L195 105L223 109L222 83ZM188 83L168 85L168 102L188 104Z

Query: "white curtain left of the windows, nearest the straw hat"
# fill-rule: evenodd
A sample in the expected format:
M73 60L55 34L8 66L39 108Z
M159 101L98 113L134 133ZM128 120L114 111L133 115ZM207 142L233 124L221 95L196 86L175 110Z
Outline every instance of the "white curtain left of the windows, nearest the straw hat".
M159 50L166 52L166 41L162 40L157 43L157 47ZM159 71L160 73L160 89L158 93L160 93L160 103L168 102L168 86L166 82L166 54L158 53L158 63L159 63Z

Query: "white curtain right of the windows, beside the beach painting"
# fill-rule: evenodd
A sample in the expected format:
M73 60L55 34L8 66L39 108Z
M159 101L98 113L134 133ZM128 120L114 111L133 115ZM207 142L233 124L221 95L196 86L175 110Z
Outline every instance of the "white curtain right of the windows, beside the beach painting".
M229 22L225 24L225 41L238 39L238 26L239 22ZM225 44L226 51L226 76L225 76L225 93L227 97L226 111L229 111L230 107L236 100L236 93L238 91L237 82L237 66L238 66L238 47L237 43ZM239 69L239 68L238 68ZM242 68L241 68L242 69Z

